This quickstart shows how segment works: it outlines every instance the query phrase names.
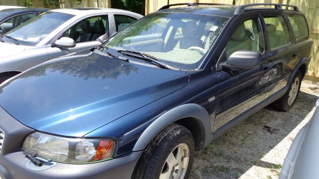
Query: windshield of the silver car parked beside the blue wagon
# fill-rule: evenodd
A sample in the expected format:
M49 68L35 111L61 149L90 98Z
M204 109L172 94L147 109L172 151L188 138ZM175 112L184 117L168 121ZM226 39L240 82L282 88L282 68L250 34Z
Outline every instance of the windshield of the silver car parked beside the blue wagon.
M17 40L20 45L35 46L43 38L49 35L53 30L58 28L64 22L72 18L74 15L60 12L45 12L38 15L17 28L5 34L2 40L12 42L12 37ZM8 37L6 37L8 36ZM6 38L5 38L6 37Z

